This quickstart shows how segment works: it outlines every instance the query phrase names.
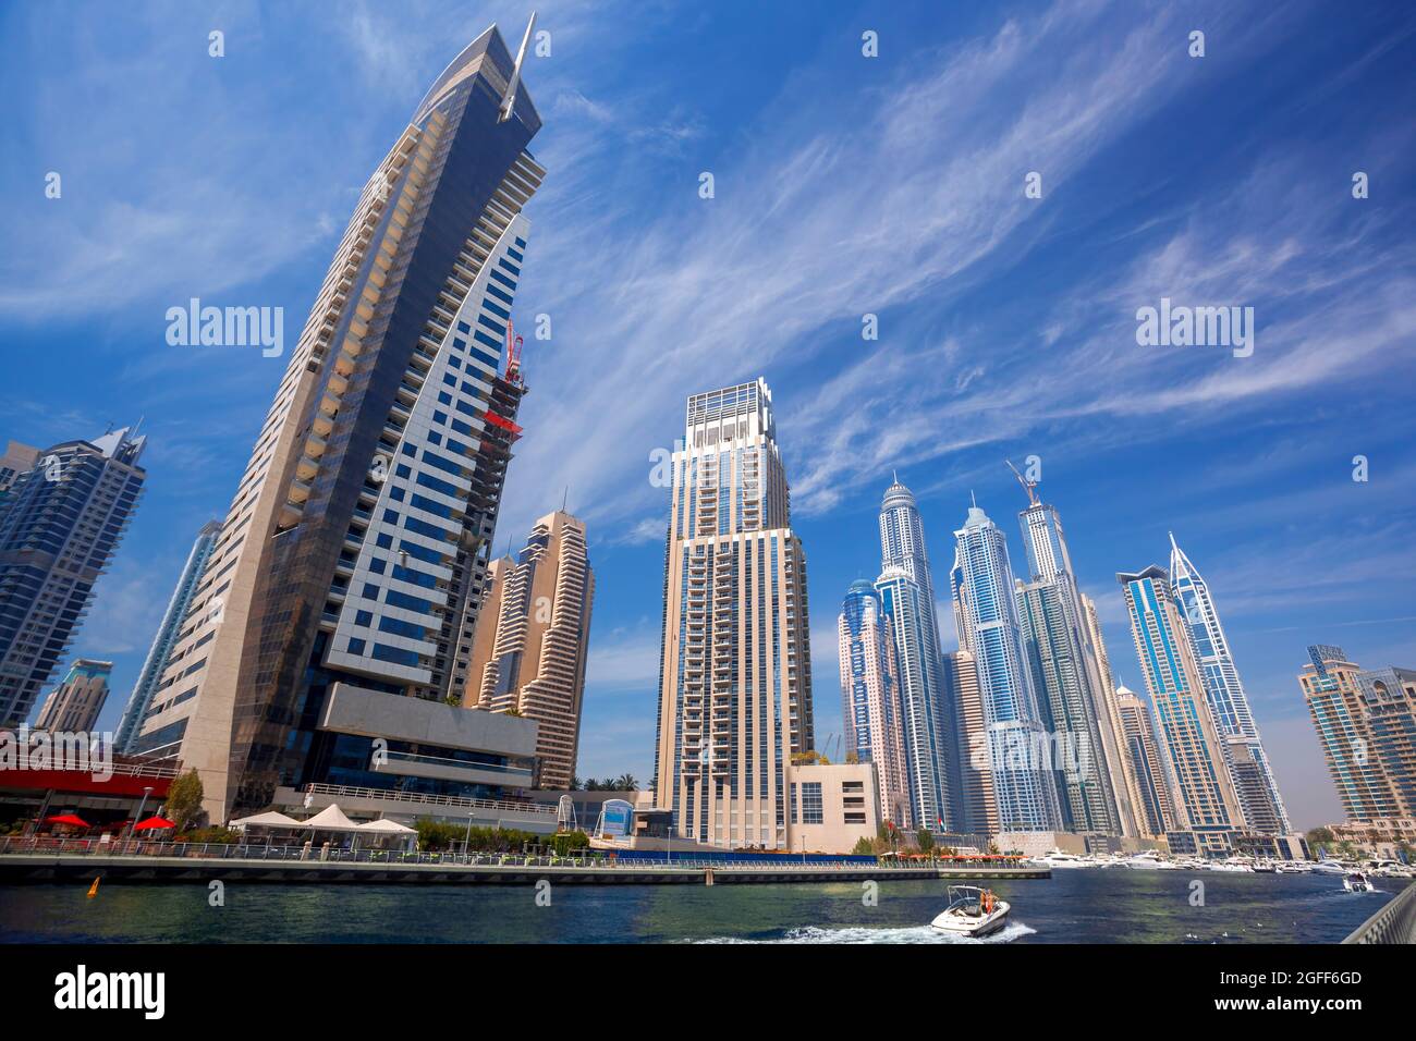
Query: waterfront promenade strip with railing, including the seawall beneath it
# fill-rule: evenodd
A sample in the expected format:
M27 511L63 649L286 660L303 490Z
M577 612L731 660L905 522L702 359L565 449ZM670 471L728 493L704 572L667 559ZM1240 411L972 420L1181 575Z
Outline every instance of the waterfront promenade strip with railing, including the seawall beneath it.
M0 882L354 882L528 885L542 878L583 885L718 885L865 880L1049 878L1045 864L1003 858L889 861L664 860L523 854L399 853L221 843L0 840Z

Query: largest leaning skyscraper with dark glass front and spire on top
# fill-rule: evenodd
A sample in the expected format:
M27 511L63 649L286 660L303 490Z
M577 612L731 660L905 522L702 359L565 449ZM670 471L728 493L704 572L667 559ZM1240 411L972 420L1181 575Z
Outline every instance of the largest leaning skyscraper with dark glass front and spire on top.
M256 436L139 741L198 770L214 820L319 780L333 702L388 718L449 693L518 429L501 351L544 176L528 40L513 61L491 27L436 78Z

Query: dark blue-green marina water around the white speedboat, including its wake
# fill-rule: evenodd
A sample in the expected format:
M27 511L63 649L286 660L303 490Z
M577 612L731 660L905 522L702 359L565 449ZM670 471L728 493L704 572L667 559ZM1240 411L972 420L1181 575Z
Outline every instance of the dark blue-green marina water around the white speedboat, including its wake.
M1191 904L1191 881L1204 905ZM1012 904L988 940L935 933L946 882L886 881L878 904L858 882L828 885L205 885L0 887L6 942L794 942L794 943L1335 943L1410 882L1347 894L1337 875L1058 871L998 881Z

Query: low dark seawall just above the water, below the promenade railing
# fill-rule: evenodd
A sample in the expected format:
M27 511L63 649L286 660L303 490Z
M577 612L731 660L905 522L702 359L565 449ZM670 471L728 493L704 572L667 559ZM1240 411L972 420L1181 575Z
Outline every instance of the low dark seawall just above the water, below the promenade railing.
M735 885L784 882L981 881L1049 878L1046 867L878 867L869 864L389 864L319 860L265 861L235 857L125 857L106 854L0 855L0 884L210 882L357 885L534 885L545 878L568 885Z

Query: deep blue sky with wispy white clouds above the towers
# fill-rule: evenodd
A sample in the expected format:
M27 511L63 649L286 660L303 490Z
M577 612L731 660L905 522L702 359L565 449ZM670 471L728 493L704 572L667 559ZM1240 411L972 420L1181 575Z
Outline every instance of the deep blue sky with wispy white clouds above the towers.
M0 438L139 415L150 435L147 494L72 647L118 663L105 722L285 365L170 347L164 312L283 306L293 343L428 84L493 21L515 47L530 10L125 8L0 11ZM525 82L549 173L517 317L549 313L552 339L528 339L500 538L565 486L589 524L582 776L651 772L650 453L685 395L762 374L809 555L818 744L840 731L835 616L878 569L891 470L943 588L970 491L1021 559L1003 459L1037 455L1120 678L1141 688L1114 572L1165 564L1174 530L1296 821L1340 816L1294 678L1306 646L1416 666L1416 11L547 3L538 27L551 55ZM1253 306L1253 355L1137 346L1136 310L1161 297Z

